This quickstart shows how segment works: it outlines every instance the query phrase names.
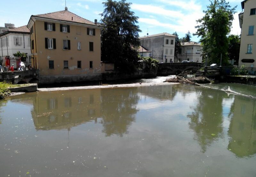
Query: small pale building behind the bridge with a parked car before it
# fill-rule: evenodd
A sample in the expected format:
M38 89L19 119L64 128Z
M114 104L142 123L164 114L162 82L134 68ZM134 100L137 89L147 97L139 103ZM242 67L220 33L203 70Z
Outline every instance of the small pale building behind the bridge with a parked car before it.
M193 62L202 62L203 55L202 55L203 47L201 44L190 41L190 42L183 42L180 46L178 60L184 61L193 61Z

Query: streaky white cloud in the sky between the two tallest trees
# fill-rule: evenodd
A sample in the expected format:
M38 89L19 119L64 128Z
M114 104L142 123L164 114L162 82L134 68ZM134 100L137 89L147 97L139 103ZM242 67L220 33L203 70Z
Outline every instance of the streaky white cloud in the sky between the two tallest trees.
M166 0L160 0L165 2ZM176 1L166 1L169 5L176 3L175 6L182 6L182 3ZM183 2L184 3L184 2ZM196 5L194 1L189 1L187 3L188 6L192 6L192 8L188 8L188 10L184 10L182 8L177 7L168 7L169 9L165 9L162 6L156 5L143 5L143 4L132 4L131 8L133 10L142 11L150 18L139 18L140 23L145 23L148 25L155 25L156 27L164 27L167 30L166 32L178 32L179 33L187 33L190 31L191 33L195 33L196 20L202 18L204 16L201 5ZM167 8L167 6L166 6ZM156 18L152 17L152 14L156 15ZM163 18L164 17L164 18ZM156 20L157 19L157 20ZM161 29L161 28L160 28ZM159 31L163 32L163 31Z

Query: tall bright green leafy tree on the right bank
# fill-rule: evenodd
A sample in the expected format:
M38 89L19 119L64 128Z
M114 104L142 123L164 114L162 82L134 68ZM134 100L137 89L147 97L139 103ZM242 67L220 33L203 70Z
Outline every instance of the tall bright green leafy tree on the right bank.
M210 0L210 5L204 11L203 18L196 20L197 32L194 35L201 37L204 53L208 54L208 64L228 64L228 33L231 30L233 15L236 6L231 8L225 0Z

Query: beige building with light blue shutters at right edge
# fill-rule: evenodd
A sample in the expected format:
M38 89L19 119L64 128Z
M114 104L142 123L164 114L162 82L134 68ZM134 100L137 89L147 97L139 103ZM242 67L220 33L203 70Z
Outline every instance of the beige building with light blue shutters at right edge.
M244 12L239 14L240 28L242 28L239 66L256 67L256 1L245 0L241 5Z

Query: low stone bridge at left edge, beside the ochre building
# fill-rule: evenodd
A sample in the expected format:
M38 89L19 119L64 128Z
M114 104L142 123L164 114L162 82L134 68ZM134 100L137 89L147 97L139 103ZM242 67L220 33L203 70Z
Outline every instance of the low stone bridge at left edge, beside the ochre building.
M36 83L38 81L38 70L7 71L0 73L0 82L12 82L13 84Z

